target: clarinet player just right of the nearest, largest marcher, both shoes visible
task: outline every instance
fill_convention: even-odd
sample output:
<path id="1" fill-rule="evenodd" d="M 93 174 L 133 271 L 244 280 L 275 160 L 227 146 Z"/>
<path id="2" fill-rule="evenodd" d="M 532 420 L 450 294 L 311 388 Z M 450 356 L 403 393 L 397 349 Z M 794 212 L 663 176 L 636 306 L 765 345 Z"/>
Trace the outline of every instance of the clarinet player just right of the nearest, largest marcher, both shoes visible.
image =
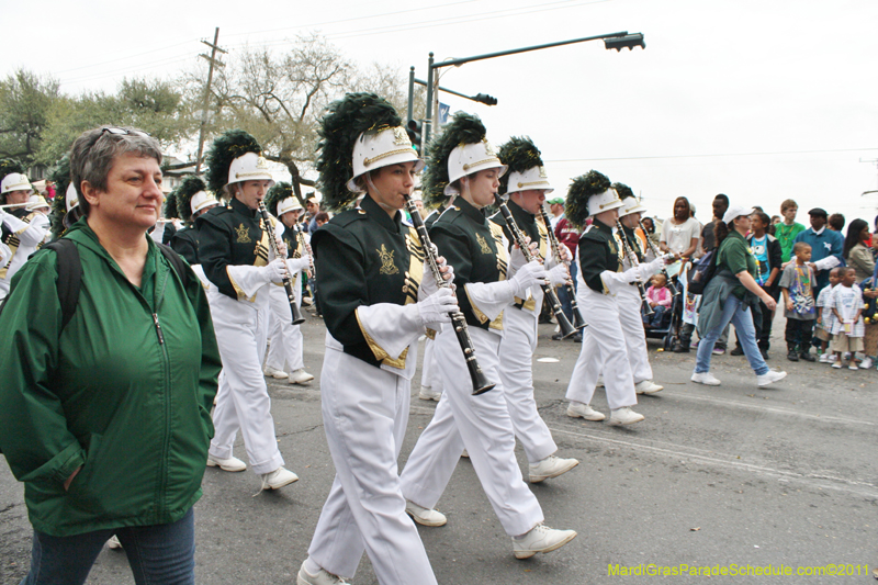
<path id="1" fill-rule="evenodd" d="M 455 195 L 432 225 L 430 239 L 454 267 L 458 300 L 475 357 L 496 386 L 474 396 L 454 331 L 437 335 L 442 397 L 401 479 L 408 500 L 406 511 L 418 524 L 442 526 L 446 517 L 432 508 L 465 448 L 494 513 L 513 539 L 515 556 L 527 559 L 563 547 L 576 532 L 543 526 L 540 504 L 521 479 L 515 457 L 515 430 L 498 371 L 504 310 L 515 297 L 527 299 L 528 291 L 544 282 L 549 272 L 537 260 L 526 262 L 520 250 L 510 265 L 503 228 L 485 217 L 483 209 L 494 203 L 504 172 L 506 166 L 475 116 L 455 114 L 430 150 L 425 198 L 436 203 Z"/>

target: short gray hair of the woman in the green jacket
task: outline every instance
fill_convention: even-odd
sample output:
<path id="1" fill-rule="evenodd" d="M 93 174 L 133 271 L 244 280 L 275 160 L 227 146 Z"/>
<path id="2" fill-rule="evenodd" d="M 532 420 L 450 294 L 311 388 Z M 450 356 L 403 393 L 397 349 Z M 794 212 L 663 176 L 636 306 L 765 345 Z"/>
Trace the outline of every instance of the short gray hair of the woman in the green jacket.
<path id="1" fill-rule="evenodd" d="M 70 181 L 76 185 L 79 207 L 89 214 L 89 202 L 82 196 L 82 181 L 88 181 L 99 191 L 106 191 L 106 176 L 116 157 L 135 153 L 144 158 L 155 158 L 161 165 L 161 147 L 158 140 L 142 130 L 119 126 L 124 133 L 113 133 L 101 126 L 79 135 L 70 149 Z"/>

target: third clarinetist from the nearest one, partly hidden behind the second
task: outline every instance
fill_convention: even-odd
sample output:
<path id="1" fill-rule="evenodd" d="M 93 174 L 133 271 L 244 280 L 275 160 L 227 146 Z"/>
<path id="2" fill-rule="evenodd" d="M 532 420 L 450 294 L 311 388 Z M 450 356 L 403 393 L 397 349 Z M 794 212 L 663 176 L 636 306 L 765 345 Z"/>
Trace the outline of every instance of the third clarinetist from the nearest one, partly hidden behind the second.
<path id="1" fill-rule="evenodd" d="M 556 262 L 549 254 L 549 234 L 536 214 L 545 201 L 545 195 L 554 191 L 540 158 L 540 150 L 530 138 L 511 138 L 499 150 L 500 162 L 509 171 L 500 177 L 500 194 L 508 195 L 507 206 L 521 232 L 530 238 L 531 246 L 538 246 L 539 254 L 547 258 L 552 285 L 560 285 L 570 279 L 566 266 Z M 491 221 L 503 227 L 509 252 L 515 241 L 502 213 L 497 212 Z M 567 250 L 566 246 L 562 248 Z M 569 250 L 567 250 L 569 254 Z M 554 267 L 552 265 L 554 263 Z M 503 312 L 503 340 L 500 341 L 499 374 L 503 393 L 513 420 L 515 435 L 525 447 L 530 463 L 530 481 L 538 483 L 572 470 L 579 462 L 576 459 L 555 457 L 558 446 L 545 426 L 537 402 L 533 400 L 533 372 L 531 362 L 537 351 L 537 328 L 542 307 L 542 289 L 531 286 L 525 297 L 516 297 Z"/>

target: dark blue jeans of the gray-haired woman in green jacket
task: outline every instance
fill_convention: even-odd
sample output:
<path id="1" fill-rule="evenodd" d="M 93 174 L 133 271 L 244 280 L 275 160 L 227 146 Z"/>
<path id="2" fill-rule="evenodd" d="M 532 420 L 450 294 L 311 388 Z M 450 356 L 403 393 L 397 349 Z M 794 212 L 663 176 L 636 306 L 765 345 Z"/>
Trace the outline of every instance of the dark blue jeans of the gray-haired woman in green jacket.
<path id="1" fill-rule="evenodd" d="M 31 572 L 21 585 L 81 585 L 104 542 L 116 535 L 137 585 L 194 585 L 195 521 L 192 508 L 176 522 L 53 537 L 34 530 Z"/>

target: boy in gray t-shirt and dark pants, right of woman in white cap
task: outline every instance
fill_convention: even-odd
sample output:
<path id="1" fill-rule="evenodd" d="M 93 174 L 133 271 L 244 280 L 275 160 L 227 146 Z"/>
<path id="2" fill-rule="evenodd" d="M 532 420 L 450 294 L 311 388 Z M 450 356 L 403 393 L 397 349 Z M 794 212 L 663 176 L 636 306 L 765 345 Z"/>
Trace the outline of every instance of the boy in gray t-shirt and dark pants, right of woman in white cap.
<path id="1" fill-rule="evenodd" d="M 814 294 L 811 288 L 814 282 L 814 271 L 809 265 L 811 260 L 811 246 L 797 241 L 792 246 L 793 260 L 784 269 L 780 277 L 780 290 L 784 291 L 784 304 L 787 317 L 787 359 L 790 361 L 815 361 L 811 356 L 811 335 L 813 334 Z"/>

